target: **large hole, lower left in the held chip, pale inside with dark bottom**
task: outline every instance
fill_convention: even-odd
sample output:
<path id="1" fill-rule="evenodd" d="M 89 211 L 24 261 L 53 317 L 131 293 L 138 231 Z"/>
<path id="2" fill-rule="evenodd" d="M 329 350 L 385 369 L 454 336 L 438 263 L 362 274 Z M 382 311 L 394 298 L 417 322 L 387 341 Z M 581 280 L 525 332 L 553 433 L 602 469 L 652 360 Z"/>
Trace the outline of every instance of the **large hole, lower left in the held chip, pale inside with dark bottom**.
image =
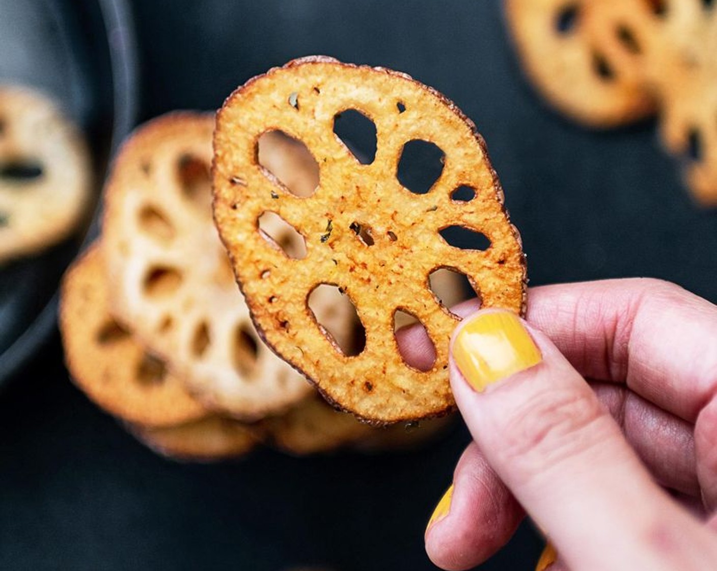
<path id="1" fill-rule="evenodd" d="M 366 347 L 366 329 L 356 306 L 340 287 L 318 284 L 307 298 L 308 308 L 321 332 L 342 355 L 355 357 Z"/>

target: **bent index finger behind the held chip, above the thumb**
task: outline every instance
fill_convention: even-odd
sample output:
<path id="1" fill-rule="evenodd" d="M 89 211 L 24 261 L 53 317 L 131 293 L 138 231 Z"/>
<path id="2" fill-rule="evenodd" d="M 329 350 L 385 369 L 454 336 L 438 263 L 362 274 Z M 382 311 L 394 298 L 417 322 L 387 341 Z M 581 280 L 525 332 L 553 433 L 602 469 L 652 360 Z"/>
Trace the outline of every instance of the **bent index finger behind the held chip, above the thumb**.
<path id="1" fill-rule="evenodd" d="M 583 376 L 689 421 L 717 394 L 717 306 L 656 279 L 535 287 L 526 319 Z"/>

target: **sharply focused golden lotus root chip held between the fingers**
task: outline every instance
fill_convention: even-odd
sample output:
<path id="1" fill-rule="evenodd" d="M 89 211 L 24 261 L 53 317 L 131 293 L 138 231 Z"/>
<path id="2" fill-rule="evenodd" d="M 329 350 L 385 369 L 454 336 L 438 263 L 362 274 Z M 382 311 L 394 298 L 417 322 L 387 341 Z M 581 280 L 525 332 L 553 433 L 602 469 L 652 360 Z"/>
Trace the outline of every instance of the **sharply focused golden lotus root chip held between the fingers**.
<path id="1" fill-rule="evenodd" d="M 349 109 L 376 126 L 370 164 L 332 132 L 337 114 Z M 295 195 L 257 159 L 260 136 L 277 130 L 318 164 L 310 196 Z M 412 141 L 445 155 L 440 177 L 421 195 L 397 177 Z M 473 189 L 473 198 L 452 198 L 460 187 Z M 305 251 L 294 255 L 267 240 L 261 226 L 269 215 L 294 228 Z M 328 400 L 377 424 L 454 407 L 447 352 L 458 317 L 429 289 L 433 271 L 465 274 L 485 306 L 523 309 L 521 243 L 483 139 L 453 103 L 402 73 L 308 57 L 237 89 L 217 115 L 214 218 L 263 338 Z M 482 234 L 490 246 L 453 247 L 442 238 L 447 228 Z M 342 351 L 309 307 L 313 292 L 326 287 L 338 287 L 356 308 L 365 331 L 356 351 Z M 416 317 L 435 347 L 427 371 L 399 353 L 399 311 Z"/>

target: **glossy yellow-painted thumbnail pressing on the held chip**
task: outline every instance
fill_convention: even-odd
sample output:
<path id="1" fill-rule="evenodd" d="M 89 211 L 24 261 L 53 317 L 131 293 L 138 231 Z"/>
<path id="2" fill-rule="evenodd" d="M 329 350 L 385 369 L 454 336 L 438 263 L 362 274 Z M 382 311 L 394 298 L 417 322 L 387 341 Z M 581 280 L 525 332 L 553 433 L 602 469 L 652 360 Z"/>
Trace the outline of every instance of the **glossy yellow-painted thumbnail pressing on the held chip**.
<path id="1" fill-rule="evenodd" d="M 468 384 L 481 392 L 543 358 L 516 314 L 490 311 L 462 325 L 453 341 L 453 359 Z"/>

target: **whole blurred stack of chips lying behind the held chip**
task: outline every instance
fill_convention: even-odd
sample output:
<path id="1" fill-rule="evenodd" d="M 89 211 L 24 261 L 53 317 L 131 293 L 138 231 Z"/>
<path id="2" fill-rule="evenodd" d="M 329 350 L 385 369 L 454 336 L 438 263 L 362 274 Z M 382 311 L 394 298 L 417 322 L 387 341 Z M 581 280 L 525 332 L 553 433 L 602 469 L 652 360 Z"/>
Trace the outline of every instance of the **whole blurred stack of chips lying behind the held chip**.
<path id="1" fill-rule="evenodd" d="M 320 187 L 317 157 L 273 127 L 252 132 L 253 159 L 277 195 L 310 197 Z M 62 284 L 60 328 L 77 386 L 153 450 L 182 460 L 234 458 L 260 443 L 296 455 L 394 450 L 445 430 L 448 417 L 359 422 L 265 345 L 234 279 L 242 261 L 227 254 L 212 218 L 214 128 L 214 113 L 169 113 L 139 127 L 115 157 L 101 236 Z M 310 247 L 280 214 L 254 230 L 272 253 Z M 457 274 L 433 279 L 451 304 L 467 297 Z M 345 293 L 315 292 L 311 312 L 332 343 L 366 343 Z"/>

